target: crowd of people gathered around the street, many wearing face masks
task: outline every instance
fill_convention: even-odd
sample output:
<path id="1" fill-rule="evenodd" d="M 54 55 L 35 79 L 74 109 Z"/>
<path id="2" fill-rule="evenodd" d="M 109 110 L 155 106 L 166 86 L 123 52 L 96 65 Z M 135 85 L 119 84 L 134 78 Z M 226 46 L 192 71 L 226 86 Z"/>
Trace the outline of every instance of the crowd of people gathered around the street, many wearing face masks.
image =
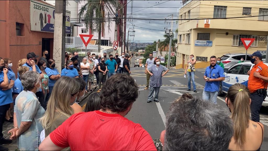
<path id="1" fill-rule="evenodd" d="M 42 54 L 47 59 L 47 51 Z M 258 55 L 252 57 L 256 64 Z M 162 77 L 169 69 L 160 65 L 159 58 L 149 56 L 145 72 L 147 81 L 151 80 L 147 102 L 159 102 Z M 185 93 L 175 100 L 166 116 L 166 129 L 154 140 L 140 124 L 125 117 L 139 96 L 139 87 L 129 76 L 128 53 L 109 58 L 105 53 L 98 59 L 90 52 L 82 59 L 77 52 L 65 53 L 61 74 L 53 59 L 37 62 L 38 57 L 28 53 L 27 59 L 18 62 L 17 79 L 12 60 L 0 58 L 1 145 L 15 139 L 19 150 L 259 150 L 262 145 L 264 127 L 249 119 L 252 88 L 242 84 L 229 88 L 225 101 L 231 116 L 214 102 L 213 92 L 224 78 L 215 56 L 204 74 L 209 89 L 204 90 L 203 98 Z M 191 71 L 187 71 L 193 72 L 193 55 L 190 59 Z M 98 75 L 101 91 L 86 98 L 83 110 L 77 100 L 92 91 L 94 75 Z M 14 122 L 8 132 L 10 139 L 3 138 L 5 120 Z M 0 150 L 8 150 L 1 145 Z"/>

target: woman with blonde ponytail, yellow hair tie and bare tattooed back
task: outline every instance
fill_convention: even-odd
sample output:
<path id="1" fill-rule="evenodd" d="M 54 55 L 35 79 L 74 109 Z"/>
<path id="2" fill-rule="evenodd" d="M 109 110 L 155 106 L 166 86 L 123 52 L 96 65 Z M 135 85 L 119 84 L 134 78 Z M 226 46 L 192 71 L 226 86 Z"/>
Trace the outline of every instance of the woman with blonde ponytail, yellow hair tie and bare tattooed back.
<path id="1" fill-rule="evenodd" d="M 234 84 L 225 99 L 234 124 L 229 150 L 260 150 L 263 124 L 250 120 L 250 93 L 242 84 Z"/>

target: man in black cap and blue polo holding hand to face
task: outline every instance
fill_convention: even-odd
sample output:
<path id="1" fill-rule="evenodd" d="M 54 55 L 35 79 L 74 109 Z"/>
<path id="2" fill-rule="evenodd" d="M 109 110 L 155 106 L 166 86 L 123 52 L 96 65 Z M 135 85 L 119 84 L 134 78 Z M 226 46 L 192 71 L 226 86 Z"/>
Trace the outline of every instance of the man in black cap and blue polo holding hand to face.
<path id="1" fill-rule="evenodd" d="M 38 57 L 39 56 L 37 56 L 34 52 L 28 53 L 27 54 L 27 62 L 22 66 L 28 67 L 30 70 L 39 73 L 40 74 L 40 80 L 41 80 L 41 79 L 44 78 L 44 75 L 43 75 L 42 71 L 39 69 L 39 67 L 36 65 Z M 43 89 L 42 84 L 41 84 L 41 87 L 39 89 L 37 89 L 35 95 L 38 98 L 41 106 L 43 108 L 45 108 L 44 89 Z"/>

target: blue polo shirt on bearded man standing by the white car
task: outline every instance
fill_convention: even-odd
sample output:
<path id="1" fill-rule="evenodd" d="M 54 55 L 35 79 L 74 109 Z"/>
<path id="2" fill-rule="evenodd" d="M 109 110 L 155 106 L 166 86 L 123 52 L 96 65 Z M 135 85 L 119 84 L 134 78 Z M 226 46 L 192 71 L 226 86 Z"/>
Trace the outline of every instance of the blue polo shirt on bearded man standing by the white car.
<path id="1" fill-rule="evenodd" d="M 218 79 L 221 77 L 225 77 L 225 74 L 223 68 L 216 64 L 215 67 L 212 69 L 211 66 L 207 67 L 204 76 L 207 76 L 210 79 Z M 219 81 L 206 82 L 204 90 L 209 92 L 219 91 L 219 84 Z"/>

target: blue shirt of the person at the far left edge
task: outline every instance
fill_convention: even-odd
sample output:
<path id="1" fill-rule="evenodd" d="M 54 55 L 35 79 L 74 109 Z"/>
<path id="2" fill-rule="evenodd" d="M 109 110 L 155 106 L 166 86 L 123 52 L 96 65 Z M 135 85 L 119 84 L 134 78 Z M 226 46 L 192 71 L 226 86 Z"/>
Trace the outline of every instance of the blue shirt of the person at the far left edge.
<path id="1" fill-rule="evenodd" d="M 8 83 L 10 83 L 10 77 L 8 75 Z M 0 84 L 4 82 L 4 73 L 0 71 Z M 0 87 L 0 106 L 10 104 L 13 102 L 12 98 L 12 90 L 5 90 L 3 91 Z"/>

